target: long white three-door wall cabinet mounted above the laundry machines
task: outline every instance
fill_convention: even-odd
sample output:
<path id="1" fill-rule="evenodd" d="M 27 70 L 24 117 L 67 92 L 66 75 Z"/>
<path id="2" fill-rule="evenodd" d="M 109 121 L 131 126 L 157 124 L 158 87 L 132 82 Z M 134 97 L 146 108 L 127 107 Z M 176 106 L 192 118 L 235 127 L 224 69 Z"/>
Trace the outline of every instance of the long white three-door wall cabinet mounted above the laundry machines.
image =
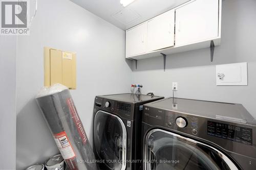
<path id="1" fill-rule="evenodd" d="M 126 58 L 138 60 L 220 45 L 221 5 L 222 0 L 191 0 L 126 30 Z"/>

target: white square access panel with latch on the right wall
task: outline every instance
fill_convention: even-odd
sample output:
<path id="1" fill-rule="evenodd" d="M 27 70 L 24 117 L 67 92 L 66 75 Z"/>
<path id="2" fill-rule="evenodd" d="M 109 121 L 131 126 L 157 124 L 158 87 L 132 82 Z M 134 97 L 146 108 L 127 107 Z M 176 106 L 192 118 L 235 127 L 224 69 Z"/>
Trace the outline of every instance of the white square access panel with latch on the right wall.
<path id="1" fill-rule="evenodd" d="M 220 79 L 218 74 L 223 74 Z M 216 65 L 217 86 L 247 86 L 247 62 Z"/>

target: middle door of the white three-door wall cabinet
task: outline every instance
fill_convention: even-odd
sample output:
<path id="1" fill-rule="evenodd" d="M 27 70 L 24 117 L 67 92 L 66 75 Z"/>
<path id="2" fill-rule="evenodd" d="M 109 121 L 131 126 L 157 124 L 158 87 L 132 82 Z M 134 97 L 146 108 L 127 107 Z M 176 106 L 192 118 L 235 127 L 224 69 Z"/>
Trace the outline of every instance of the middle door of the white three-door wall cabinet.
<path id="1" fill-rule="evenodd" d="M 167 11 L 147 22 L 147 51 L 174 46 L 175 10 Z"/>

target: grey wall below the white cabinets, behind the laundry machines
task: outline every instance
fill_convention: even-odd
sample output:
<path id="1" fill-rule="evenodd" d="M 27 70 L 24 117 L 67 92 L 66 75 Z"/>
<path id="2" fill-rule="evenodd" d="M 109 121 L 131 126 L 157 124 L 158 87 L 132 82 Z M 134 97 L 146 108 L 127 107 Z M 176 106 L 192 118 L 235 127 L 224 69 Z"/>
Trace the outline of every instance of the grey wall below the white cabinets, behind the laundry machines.
<path id="1" fill-rule="evenodd" d="M 133 63 L 133 82 L 143 85 L 144 93 L 172 96 L 172 82 L 178 82 L 179 98 L 241 103 L 256 118 L 256 1 L 222 1 L 221 45 L 215 47 L 214 62 L 210 50 L 168 55 L 166 71 L 163 57 Z M 248 86 L 216 86 L 216 65 L 248 62 Z"/>

